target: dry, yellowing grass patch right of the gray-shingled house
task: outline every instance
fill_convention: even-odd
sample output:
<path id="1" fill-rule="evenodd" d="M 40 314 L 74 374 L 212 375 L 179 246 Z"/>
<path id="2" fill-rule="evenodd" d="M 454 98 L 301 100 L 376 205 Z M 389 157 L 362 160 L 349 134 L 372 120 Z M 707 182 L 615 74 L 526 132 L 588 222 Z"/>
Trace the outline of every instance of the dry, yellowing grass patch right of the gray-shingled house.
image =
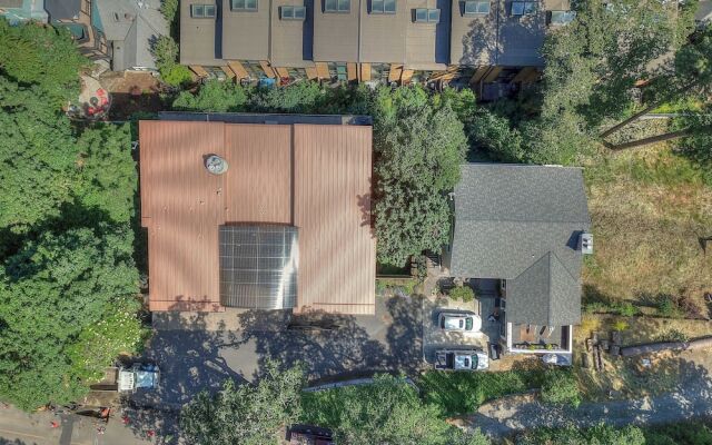
<path id="1" fill-rule="evenodd" d="M 585 169 L 594 255 L 584 261 L 584 300 L 694 301 L 705 314 L 712 255 L 712 186 L 666 146 L 607 154 Z M 712 248 L 712 246 L 710 246 Z"/>

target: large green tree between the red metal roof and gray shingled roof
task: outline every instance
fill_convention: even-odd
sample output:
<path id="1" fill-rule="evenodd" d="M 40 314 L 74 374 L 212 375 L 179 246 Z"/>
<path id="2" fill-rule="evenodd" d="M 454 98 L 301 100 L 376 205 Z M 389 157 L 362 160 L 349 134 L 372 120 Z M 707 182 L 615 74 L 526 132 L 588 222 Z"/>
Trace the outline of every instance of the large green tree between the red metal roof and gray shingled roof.
<path id="1" fill-rule="evenodd" d="M 445 194 L 459 179 L 467 140 L 451 105 L 421 88 L 380 89 L 372 107 L 378 259 L 399 265 L 447 243 Z"/>

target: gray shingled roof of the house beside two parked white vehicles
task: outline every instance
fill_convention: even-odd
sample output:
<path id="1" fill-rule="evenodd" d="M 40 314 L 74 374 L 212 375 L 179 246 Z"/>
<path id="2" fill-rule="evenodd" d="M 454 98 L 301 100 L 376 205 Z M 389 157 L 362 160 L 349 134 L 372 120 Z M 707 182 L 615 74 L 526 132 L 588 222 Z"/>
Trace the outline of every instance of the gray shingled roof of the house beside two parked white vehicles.
<path id="1" fill-rule="evenodd" d="M 465 165 L 455 188 L 451 275 L 507 279 L 508 320 L 575 324 L 577 244 L 590 226 L 578 168 Z"/>

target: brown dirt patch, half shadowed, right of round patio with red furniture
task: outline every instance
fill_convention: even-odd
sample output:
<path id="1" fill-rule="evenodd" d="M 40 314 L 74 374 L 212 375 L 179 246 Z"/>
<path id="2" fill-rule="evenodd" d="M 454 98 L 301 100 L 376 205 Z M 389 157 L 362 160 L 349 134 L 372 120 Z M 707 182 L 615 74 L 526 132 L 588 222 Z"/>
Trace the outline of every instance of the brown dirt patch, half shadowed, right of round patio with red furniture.
<path id="1" fill-rule="evenodd" d="M 102 85 L 111 93 L 111 119 L 123 120 L 136 112 L 158 112 L 162 110 L 162 86 L 150 72 L 107 72 Z"/>

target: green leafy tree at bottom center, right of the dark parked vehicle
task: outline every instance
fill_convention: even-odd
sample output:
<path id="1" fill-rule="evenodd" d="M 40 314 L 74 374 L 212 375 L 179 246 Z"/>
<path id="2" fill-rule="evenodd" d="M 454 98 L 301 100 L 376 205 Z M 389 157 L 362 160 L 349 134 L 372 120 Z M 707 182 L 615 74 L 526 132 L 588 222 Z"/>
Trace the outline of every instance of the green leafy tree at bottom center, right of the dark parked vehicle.
<path id="1" fill-rule="evenodd" d="M 373 385 L 305 393 L 303 404 L 303 422 L 333 428 L 337 443 L 437 445 L 456 434 L 436 406 L 389 375 L 376 376 Z"/>

